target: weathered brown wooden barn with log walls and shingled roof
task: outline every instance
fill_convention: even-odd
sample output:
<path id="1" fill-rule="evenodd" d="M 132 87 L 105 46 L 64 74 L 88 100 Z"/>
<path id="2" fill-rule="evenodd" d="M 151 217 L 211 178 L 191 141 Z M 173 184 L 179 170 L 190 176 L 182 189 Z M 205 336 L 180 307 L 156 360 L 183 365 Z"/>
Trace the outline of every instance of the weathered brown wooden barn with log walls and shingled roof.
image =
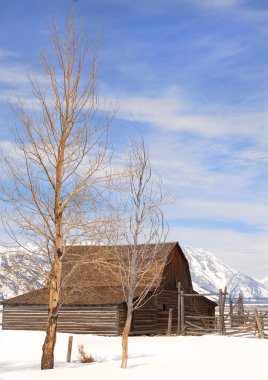
<path id="1" fill-rule="evenodd" d="M 148 246 L 148 252 L 153 249 Z M 121 335 L 126 319 L 126 303 L 119 276 L 112 270 L 118 247 L 73 246 L 63 260 L 65 285 L 61 292 L 58 331 L 101 335 Z M 123 250 L 124 246 L 120 246 Z M 164 243 L 159 255 L 165 265 L 155 284 L 154 296 L 134 311 L 131 334 L 165 334 L 169 310 L 173 310 L 172 331 L 178 327 L 178 289 L 194 294 L 188 261 L 178 243 Z M 103 263 L 101 265 L 103 257 Z M 157 268 L 157 260 L 155 263 Z M 146 279 L 143 286 L 146 286 Z M 140 288 L 137 289 L 138 296 Z M 45 330 L 48 309 L 47 288 L 2 301 L 2 328 Z M 185 319 L 201 315 L 214 317 L 216 303 L 199 297 L 185 297 Z"/>

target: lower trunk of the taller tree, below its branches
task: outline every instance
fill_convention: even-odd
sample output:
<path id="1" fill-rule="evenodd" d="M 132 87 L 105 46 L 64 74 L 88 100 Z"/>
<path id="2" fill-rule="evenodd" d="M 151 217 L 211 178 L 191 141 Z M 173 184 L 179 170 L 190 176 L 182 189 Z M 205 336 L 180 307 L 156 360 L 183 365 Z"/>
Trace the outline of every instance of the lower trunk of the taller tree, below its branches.
<path id="1" fill-rule="evenodd" d="M 41 359 L 41 369 L 54 368 L 54 347 L 56 343 L 57 322 L 59 314 L 59 283 L 61 278 L 61 261 L 56 260 L 54 264 L 54 275 L 51 280 L 48 321 L 46 327 L 46 337 L 43 344 L 43 355 Z"/>

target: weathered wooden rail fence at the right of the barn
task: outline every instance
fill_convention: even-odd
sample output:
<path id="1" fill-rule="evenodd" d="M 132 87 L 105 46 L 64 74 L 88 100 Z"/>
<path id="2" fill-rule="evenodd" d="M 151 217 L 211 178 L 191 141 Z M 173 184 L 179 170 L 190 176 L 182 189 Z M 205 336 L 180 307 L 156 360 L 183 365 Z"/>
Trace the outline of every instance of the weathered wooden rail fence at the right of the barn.
<path id="1" fill-rule="evenodd" d="M 238 298 L 231 297 L 227 288 L 219 289 L 213 295 L 218 299 L 215 317 L 204 315 L 184 315 L 184 302 L 192 302 L 193 297 L 208 294 L 188 294 L 178 284 L 178 304 L 181 311 L 178 321 L 178 334 L 204 335 L 218 333 L 222 335 L 243 336 L 251 338 L 268 338 L 268 298 Z M 227 297 L 228 296 L 228 297 Z M 182 302 L 183 301 L 183 302 Z"/>

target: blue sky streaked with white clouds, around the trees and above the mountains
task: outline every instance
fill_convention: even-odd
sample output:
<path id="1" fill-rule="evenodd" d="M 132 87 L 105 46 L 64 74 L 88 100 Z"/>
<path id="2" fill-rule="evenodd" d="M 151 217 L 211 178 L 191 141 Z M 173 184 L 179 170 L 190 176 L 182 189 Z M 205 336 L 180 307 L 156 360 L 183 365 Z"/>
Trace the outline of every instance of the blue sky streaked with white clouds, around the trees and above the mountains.
<path id="1" fill-rule="evenodd" d="M 31 100 L 48 27 L 75 6 L 100 38 L 100 95 L 119 111 L 116 149 L 144 134 L 172 203 L 169 240 L 268 275 L 268 3 L 0 0 L 0 145 L 15 93 Z"/>

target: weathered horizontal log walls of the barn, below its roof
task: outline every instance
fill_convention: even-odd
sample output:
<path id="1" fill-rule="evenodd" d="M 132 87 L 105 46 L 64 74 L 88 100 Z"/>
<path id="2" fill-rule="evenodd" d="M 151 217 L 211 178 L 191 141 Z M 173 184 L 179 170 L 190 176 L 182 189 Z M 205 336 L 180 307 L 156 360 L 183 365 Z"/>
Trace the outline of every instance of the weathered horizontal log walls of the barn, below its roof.
<path id="1" fill-rule="evenodd" d="M 213 317 L 214 307 L 203 297 L 185 299 L 185 321 L 204 326 L 202 319 Z M 172 333 L 177 331 L 178 294 L 176 290 L 163 290 L 149 299 L 133 313 L 131 335 L 166 334 L 169 309 L 173 309 Z M 47 307 L 43 305 L 4 305 L 3 329 L 45 330 Z M 59 312 L 58 331 L 79 334 L 121 335 L 126 320 L 126 304 L 62 306 Z M 211 323 L 211 322 L 209 322 Z M 208 321 L 205 321 L 208 324 Z M 213 327 L 211 325 L 211 327 Z"/>

